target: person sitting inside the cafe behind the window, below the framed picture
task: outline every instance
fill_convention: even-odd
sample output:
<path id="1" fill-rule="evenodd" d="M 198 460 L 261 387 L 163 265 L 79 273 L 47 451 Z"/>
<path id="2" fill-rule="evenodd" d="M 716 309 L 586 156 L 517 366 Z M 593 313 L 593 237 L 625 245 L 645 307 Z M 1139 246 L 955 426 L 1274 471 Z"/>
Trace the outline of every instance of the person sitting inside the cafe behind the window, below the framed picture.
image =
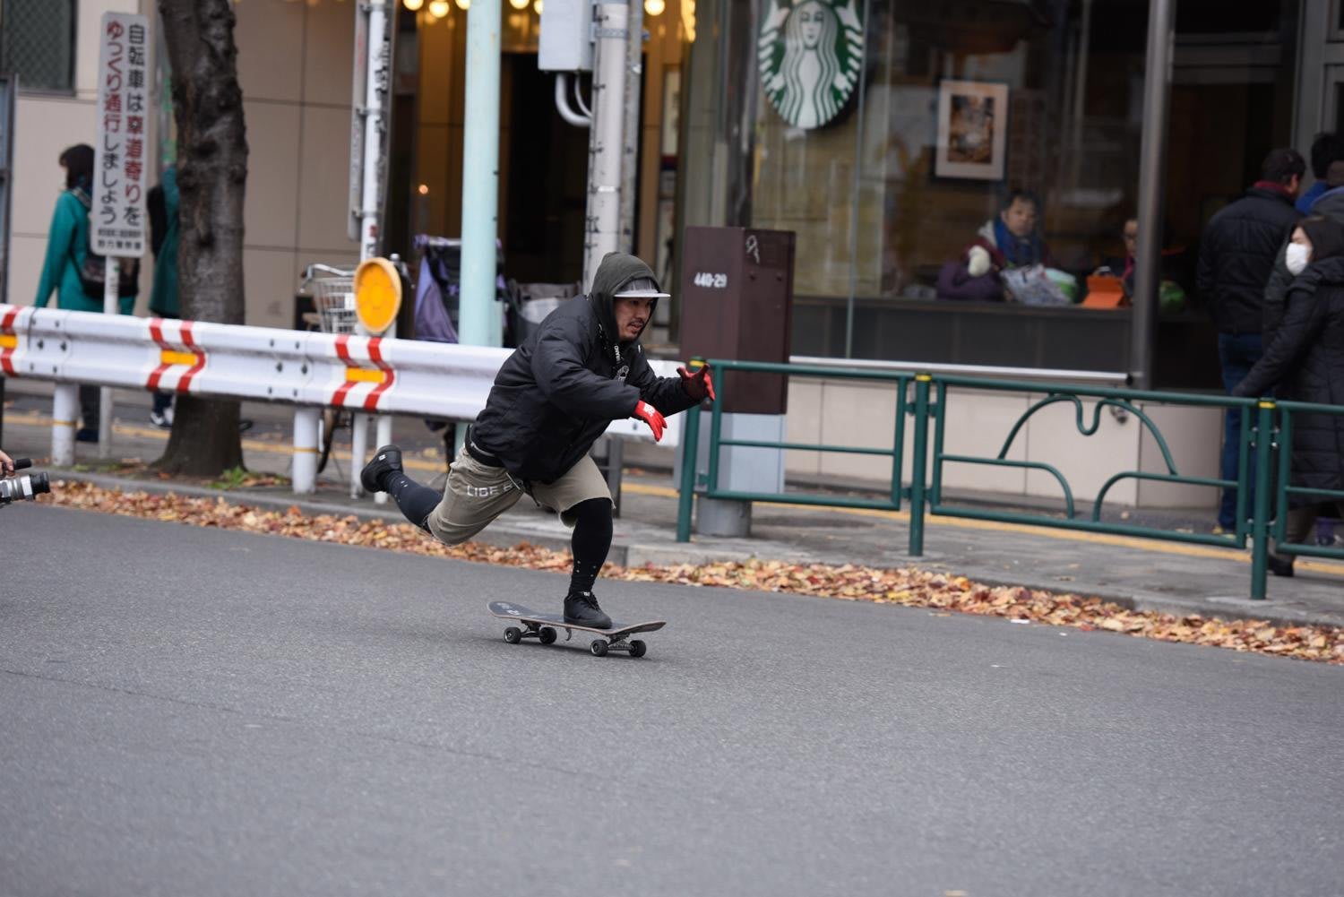
<path id="1" fill-rule="evenodd" d="M 1054 268 L 1050 249 L 1036 230 L 1040 203 L 1025 190 L 1015 190 L 986 221 L 961 258 L 938 273 L 938 299 L 1004 301 L 1000 274 L 1012 268 Z"/>

